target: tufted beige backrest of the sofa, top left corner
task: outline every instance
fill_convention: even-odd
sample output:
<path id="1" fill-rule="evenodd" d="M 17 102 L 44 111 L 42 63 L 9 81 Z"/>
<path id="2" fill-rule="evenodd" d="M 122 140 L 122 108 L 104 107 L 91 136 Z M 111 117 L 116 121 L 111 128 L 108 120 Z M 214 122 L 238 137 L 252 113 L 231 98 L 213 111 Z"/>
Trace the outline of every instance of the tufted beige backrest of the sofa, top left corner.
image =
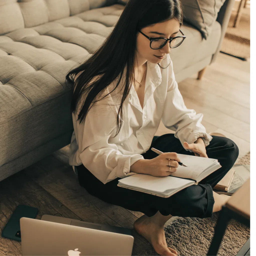
<path id="1" fill-rule="evenodd" d="M 116 0 L 0 0 L 0 35 L 115 3 Z"/>

